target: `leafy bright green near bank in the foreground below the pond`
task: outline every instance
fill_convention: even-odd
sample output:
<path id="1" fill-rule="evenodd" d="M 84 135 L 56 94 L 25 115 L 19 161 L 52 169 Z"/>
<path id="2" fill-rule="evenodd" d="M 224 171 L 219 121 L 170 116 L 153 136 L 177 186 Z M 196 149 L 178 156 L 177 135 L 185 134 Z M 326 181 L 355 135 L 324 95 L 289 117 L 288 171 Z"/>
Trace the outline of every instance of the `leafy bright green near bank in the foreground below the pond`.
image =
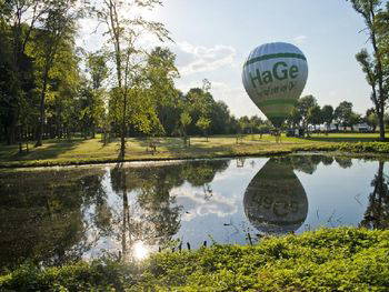
<path id="1" fill-rule="evenodd" d="M 389 231 L 332 229 L 161 252 L 143 263 L 31 265 L 0 276 L 1 291 L 388 291 Z"/>

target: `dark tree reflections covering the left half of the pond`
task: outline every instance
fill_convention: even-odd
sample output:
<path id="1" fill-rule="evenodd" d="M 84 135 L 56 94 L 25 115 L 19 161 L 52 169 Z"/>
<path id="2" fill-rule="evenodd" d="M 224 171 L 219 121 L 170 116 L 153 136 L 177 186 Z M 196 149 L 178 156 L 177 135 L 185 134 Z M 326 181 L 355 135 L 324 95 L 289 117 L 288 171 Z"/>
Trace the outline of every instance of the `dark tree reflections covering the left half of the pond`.
<path id="1" fill-rule="evenodd" d="M 216 160 L 119 165 L 108 172 L 68 168 L 2 173 L 0 272 L 26 260 L 61 265 L 99 256 L 99 250 L 111 250 L 110 241 L 119 243 L 123 259 L 142 258 L 150 245 L 168 245 L 180 228 L 181 209 L 171 190 L 189 182 L 210 198 L 216 173 L 228 165 L 228 160 Z"/>

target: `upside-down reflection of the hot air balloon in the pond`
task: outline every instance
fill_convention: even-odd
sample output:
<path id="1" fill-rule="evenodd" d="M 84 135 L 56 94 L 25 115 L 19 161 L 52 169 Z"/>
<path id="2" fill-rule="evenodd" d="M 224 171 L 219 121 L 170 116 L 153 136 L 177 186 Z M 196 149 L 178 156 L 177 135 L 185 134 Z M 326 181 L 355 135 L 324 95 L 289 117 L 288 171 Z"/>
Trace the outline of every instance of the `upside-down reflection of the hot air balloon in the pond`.
<path id="1" fill-rule="evenodd" d="M 243 198 L 245 214 L 262 233 L 297 231 L 307 219 L 306 191 L 286 159 L 270 159 L 251 180 Z"/>

